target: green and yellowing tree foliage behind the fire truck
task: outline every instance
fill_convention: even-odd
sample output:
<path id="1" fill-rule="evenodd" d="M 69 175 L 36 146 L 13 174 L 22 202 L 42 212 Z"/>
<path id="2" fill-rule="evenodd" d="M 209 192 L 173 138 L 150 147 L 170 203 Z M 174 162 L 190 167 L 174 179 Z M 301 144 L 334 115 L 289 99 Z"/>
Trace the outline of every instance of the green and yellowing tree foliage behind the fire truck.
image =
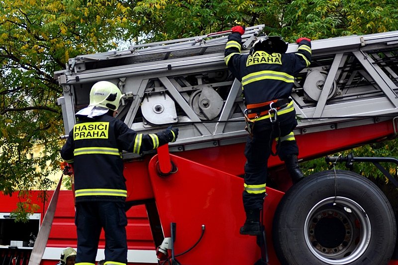
<path id="1" fill-rule="evenodd" d="M 0 0 L 0 4 L 0 189 L 6 194 L 45 189 L 51 184 L 48 174 L 58 170 L 59 136 L 64 132 L 56 99 L 62 89 L 53 73 L 64 69 L 69 58 L 204 35 L 236 24 L 265 24 L 267 34 L 289 42 L 301 36 L 320 39 L 398 29 L 394 0 Z M 35 144 L 44 146 L 43 156 L 32 159 L 29 152 Z M 392 148 L 383 155 L 394 152 Z M 323 164 L 315 161 L 305 166 L 323 167 L 319 165 Z"/>

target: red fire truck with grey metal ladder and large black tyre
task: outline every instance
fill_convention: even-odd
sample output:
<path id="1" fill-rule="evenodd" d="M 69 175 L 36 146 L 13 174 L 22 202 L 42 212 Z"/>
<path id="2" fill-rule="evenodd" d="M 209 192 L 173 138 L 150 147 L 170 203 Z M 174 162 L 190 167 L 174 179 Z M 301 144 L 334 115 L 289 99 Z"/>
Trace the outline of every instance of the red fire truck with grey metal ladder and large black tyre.
<path id="1" fill-rule="evenodd" d="M 265 35 L 263 29 L 246 28 L 242 53 Z M 375 183 L 349 170 L 317 172 L 292 186 L 284 164 L 271 157 L 264 233 L 239 234 L 248 134 L 241 84 L 224 63 L 228 34 L 81 55 L 54 74 L 63 88 L 58 104 L 66 135 L 98 81 L 112 82 L 124 94 L 117 118 L 129 128 L 145 134 L 179 128 L 178 140 L 157 151 L 123 154 L 129 264 L 398 264 L 396 211 Z M 398 31 L 311 45 L 311 64 L 297 76 L 291 96 L 299 160 L 396 137 Z M 297 48 L 289 44 L 287 52 Z M 327 160 L 349 167 L 373 163 L 398 187 L 380 164 L 397 159 Z M 42 264 L 56 260 L 51 252 L 76 247 L 73 193 L 60 196 Z M 98 260 L 103 246 L 102 236 Z"/>

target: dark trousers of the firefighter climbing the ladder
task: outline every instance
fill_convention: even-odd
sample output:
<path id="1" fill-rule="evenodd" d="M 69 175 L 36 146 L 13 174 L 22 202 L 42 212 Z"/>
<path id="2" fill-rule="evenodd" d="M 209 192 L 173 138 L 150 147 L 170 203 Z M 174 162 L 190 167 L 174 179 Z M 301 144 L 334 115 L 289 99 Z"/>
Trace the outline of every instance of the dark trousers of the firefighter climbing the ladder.
<path id="1" fill-rule="evenodd" d="M 267 164 L 271 155 L 270 139 L 284 137 L 293 132 L 297 126 L 296 111 L 277 116 L 279 129 L 272 130 L 269 118 L 256 121 L 253 127 L 253 136 L 247 137 L 245 147 L 245 184 L 261 185 L 267 182 Z M 278 156 L 285 161 L 288 155 L 298 155 L 296 140 L 281 141 L 278 147 Z M 248 193 L 243 191 L 243 206 L 245 210 L 263 208 L 265 193 Z"/>

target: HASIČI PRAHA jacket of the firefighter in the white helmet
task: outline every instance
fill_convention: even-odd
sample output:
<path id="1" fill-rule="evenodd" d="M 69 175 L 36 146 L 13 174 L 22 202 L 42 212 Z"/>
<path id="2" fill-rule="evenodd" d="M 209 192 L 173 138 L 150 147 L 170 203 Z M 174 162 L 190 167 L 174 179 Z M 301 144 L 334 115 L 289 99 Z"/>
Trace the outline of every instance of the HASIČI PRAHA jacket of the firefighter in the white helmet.
<path id="1" fill-rule="evenodd" d="M 140 134 L 107 114 L 75 124 L 61 149 L 73 163 L 75 196 L 79 201 L 124 201 L 122 150 L 140 154 L 174 140 L 170 131 Z"/>

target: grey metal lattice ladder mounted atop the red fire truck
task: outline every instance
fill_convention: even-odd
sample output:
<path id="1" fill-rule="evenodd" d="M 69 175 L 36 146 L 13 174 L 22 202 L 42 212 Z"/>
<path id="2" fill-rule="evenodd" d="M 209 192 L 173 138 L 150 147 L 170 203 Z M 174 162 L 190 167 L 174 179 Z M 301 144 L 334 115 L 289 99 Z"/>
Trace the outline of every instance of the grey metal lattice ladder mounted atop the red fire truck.
<path id="1" fill-rule="evenodd" d="M 242 53 L 264 25 L 249 27 Z M 136 131 L 179 125 L 171 151 L 244 141 L 241 84 L 226 69 L 228 33 L 131 46 L 70 59 L 55 73 L 64 89 L 65 130 L 88 104 L 91 86 L 117 84 L 125 94 L 119 118 Z M 290 44 L 288 52 L 295 52 Z M 391 119 L 398 107 L 398 31 L 312 41 L 312 62 L 297 77 L 292 98 L 303 118 L 295 134 L 334 130 Z M 382 106 L 382 107 L 381 107 Z"/>

